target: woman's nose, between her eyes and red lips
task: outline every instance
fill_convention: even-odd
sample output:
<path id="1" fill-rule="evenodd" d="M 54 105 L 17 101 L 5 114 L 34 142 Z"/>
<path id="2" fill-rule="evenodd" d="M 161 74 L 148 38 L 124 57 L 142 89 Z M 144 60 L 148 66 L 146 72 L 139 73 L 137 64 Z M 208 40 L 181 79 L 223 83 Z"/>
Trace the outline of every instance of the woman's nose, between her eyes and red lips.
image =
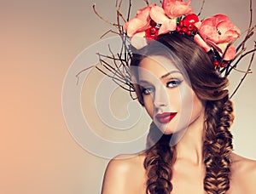
<path id="1" fill-rule="evenodd" d="M 166 88 L 163 85 L 155 88 L 154 92 L 154 107 L 158 108 L 160 106 L 167 106 L 169 105 L 169 98 L 166 91 Z"/>

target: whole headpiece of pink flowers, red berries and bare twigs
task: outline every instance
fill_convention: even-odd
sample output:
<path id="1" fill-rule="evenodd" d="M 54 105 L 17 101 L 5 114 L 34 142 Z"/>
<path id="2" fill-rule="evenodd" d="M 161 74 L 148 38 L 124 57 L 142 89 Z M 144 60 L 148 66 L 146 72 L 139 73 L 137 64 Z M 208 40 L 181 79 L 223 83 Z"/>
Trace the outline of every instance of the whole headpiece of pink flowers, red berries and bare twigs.
<path id="1" fill-rule="evenodd" d="M 143 48 L 152 40 L 157 40 L 161 34 L 170 33 L 170 36 L 172 36 L 172 33 L 180 33 L 184 36 L 193 37 L 195 43 L 204 48 L 208 54 L 211 54 L 214 59 L 212 61 L 213 65 L 224 77 L 229 76 L 232 70 L 240 71 L 236 68 L 238 63 L 247 55 L 251 55 L 247 71 L 241 71 L 244 75 L 233 92 L 235 94 L 247 74 L 252 73 L 251 66 L 256 52 L 255 41 L 252 49 L 247 50 L 246 47 L 247 41 L 253 37 L 256 29 L 256 25 L 252 25 L 252 0 L 249 0 L 249 26 L 247 31 L 244 32 L 244 38 L 237 47 L 235 47 L 234 42 L 241 37 L 241 31 L 230 21 L 227 15 L 215 14 L 204 20 L 199 19 L 205 0 L 202 0 L 199 14 L 193 13 L 193 8 L 189 7 L 191 0 L 187 2 L 183 2 L 183 0 L 163 0 L 160 1 L 161 6 L 158 6 L 156 3 L 149 4 L 148 0 L 143 1 L 147 6 L 137 10 L 136 17 L 130 19 L 131 0 L 129 0 L 130 5 L 127 19 L 125 19 L 124 14 L 120 11 L 122 0 L 116 0 L 117 21 L 115 23 L 106 20 L 102 15 L 98 14 L 96 5 L 93 5 L 96 15 L 117 29 L 117 31 L 107 31 L 102 37 L 108 34 L 108 32 L 113 32 L 118 34 L 123 41 L 122 48 L 117 56 L 111 52 L 111 48 L 109 48 L 111 53 L 109 55 L 98 54 L 102 66 L 95 66 L 96 69 L 111 77 L 121 88 L 125 88 L 131 94 L 135 91 L 131 83 L 129 68 L 132 54 L 131 48 Z M 113 65 L 103 58 L 113 60 Z M 233 94 L 230 95 L 230 98 Z"/>

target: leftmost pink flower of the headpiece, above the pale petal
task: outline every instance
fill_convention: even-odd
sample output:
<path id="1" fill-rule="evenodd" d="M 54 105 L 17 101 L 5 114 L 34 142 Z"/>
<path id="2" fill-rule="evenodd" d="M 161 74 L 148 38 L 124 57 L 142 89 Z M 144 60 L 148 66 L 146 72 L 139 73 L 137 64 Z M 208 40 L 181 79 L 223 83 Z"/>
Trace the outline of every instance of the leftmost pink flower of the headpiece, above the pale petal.
<path id="1" fill-rule="evenodd" d="M 135 18 L 125 23 L 125 31 L 129 37 L 135 34 L 146 31 L 150 27 L 150 10 L 155 6 L 155 3 L 137 10 Z"/>

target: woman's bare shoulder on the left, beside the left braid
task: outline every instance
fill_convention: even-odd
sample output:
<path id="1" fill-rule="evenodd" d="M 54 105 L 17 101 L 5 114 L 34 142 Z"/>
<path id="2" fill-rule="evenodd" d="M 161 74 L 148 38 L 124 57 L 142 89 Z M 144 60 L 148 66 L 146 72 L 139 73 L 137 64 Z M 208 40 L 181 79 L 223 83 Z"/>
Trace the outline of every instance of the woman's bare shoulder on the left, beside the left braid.
<path id="1" fill-rule="evenodd" d="M 137 193 L 143 187 L 143 155 L 120 155 L 108 163 L 102 194 Z"/>

